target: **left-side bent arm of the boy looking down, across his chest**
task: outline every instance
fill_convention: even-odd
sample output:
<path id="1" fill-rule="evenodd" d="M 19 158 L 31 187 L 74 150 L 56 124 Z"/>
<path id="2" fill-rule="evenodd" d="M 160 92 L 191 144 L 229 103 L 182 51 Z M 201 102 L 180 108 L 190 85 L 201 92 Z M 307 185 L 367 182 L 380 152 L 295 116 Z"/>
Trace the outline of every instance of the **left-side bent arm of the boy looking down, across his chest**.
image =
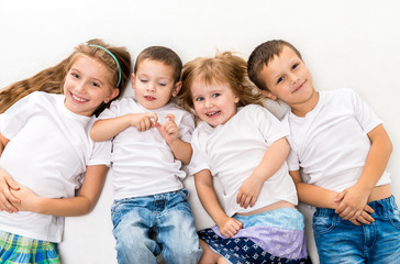
<path id="1" fill-rule="evenodd" d="M 158 117 L 155 112 L 130 113 L 118 118 L 102 119 L 93 123 L 90 130 L 92 141 L 108 141 L 129 127 L 135 127 L 138 131 L 154 128 Z"/>

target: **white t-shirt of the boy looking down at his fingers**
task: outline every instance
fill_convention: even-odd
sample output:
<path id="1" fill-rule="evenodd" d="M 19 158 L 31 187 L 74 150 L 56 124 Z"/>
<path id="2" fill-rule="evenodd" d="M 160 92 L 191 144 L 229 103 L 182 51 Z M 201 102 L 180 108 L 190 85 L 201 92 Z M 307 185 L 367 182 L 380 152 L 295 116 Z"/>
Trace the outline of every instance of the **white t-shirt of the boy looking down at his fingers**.
<path id="1" fill-rule="evenodd" d="M 113 101 L 99 119 L 121 117 L 127 113 L 156 112 L 158 122 L 166 121 L 165 116 L 175 116 L 179 128 L 179 139 L 190 142 L 195 129 L 193 117 L 168 103 L 156 110 L 147 110 L 133 98 Z M 114 199 L 141 197 L 181 189 L 186 173 L 180 161 L 156 128 L 138 131 L 130 127 L 114 136 L 111 155 L 113 168 Z"/>

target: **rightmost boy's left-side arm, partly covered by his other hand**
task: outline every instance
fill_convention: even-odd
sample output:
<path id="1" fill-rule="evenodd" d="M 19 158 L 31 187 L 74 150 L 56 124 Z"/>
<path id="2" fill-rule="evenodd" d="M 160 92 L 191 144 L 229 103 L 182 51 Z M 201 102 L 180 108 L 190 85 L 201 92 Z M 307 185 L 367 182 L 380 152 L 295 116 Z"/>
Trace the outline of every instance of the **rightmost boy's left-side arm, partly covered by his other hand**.
<path id="1" fill-rule="evenodd" d="M 337 208 L 337 202 L 335 202 L 335 197 L 337 196 L 336 191 L 303 183 L 300 170 L 290 170 L 289 174 L 295 182 L 297 194 L 301 202 L 321 208 Z M 354 219 L 351 222 L 356 226 L 360 226 L 360 223 L 369 224 L 374 222 L 374 218 L 369 216 L 369 213 L 374 213 L 373 208 L 365 206 L 364 210 L 365 211 L 357 219 Z"/>

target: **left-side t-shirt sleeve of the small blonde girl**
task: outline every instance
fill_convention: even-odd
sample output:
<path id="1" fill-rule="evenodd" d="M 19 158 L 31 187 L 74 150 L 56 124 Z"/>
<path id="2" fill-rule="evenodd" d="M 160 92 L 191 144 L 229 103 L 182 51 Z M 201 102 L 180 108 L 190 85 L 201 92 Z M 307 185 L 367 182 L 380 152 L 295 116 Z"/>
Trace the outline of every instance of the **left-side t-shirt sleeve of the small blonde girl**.
<path id="1" fill-rule="evenodd" d="M 197 129 L 191 138 L 191 147 L 193 148 L 193 153 L 190 163 L 187 166 L 189 175 L 195 175 L 203 169 L 209 169 L 211 172 L 207 155 L 204 151 L 201 150 L 199 131 Z"/>

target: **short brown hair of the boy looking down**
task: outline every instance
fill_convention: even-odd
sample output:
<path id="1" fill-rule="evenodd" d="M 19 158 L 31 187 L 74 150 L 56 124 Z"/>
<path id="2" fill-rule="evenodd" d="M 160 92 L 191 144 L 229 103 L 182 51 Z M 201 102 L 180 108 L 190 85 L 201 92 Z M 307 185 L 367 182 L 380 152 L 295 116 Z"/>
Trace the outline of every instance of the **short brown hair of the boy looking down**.
<path id="1" fill-rule="evenodd" d="M 144 59 L 162 62 L 165 65 L 171 66 L 174 69 L 174 81 L 175 84 L 180 80 L 180 73 L 182 70 L 182 61 L 173 50 L 164 46 L 149 46 L 143 50 L 136 58 L 135 67 L 133 73 L 136 74 L 138 64 Z"/>

